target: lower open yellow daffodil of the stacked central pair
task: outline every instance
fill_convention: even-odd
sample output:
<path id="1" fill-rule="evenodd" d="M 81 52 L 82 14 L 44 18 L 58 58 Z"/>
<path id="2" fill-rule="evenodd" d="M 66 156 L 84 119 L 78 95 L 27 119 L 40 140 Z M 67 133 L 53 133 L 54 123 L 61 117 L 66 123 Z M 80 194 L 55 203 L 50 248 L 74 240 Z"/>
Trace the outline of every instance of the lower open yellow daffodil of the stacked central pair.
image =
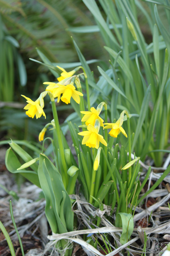
<path id="1" fill-rule="evenodd" d="M 94 126 L 88 125 L 87 130 L 88 131 L 81 131 L 78 133 L 79 135 L 84 136 L 82 145 L 86 144 L 88 147 L 95 147 L 98 149 L 99 142 L 101 142 L 103 145 L 107 146 L 103 136 L 98 133 L 98 130 Z"/>

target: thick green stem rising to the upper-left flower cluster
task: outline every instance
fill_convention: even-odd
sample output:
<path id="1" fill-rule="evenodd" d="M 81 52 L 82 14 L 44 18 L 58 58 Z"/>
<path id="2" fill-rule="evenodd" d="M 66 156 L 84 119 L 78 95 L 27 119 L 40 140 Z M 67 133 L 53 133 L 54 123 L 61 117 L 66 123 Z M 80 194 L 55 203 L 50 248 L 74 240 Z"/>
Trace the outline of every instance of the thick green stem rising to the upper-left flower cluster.
<path id="1" fill-rule="evenodd" d="M 54 117 L 54 123 L 55 123 L 55 131 L 56 131 L 56 135 L 57 135 L 57 139 L 58 139 L 58 145 L 59 145 L 60 155 L 61 155 L 61 159 L 62 159 L 62 165 L 63 165 L 65 179 L 66 179 L 66 181 L 65 182 L 63 181 L 63 182 L 67 186 L 67 184 L 68 184 L 67 165 L 66 165 L 66 160 L 65 160 L 65 155 L 64 155 L 64 147 L 63 147 L 63 142 L 62 142 L 62 137 L 61 137 L 61 131 L 60 131 L 60 125 L 59 125 L 59 121 L 58 121 L 58 115 L 57 115 L 55 101 L 51 100 L 51 105 L 52 105 L 52 111 L 53 111 L 53 117 Z"/>

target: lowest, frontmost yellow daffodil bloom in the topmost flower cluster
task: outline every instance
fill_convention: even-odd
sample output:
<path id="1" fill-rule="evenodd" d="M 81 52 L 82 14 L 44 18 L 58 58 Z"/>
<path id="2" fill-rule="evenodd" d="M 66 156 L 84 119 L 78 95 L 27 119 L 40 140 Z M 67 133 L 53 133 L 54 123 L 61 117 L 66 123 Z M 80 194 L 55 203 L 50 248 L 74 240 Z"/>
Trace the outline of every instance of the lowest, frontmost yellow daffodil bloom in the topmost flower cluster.
<path id="1" fill-rule="evenodd" d="M 75 90 L 74 85 L 68 84 L 68 85 L 62 85 L 62 84 L 57 84 L 60 88 L 57 89 L 55 96 L 59 97 L 61 94 L 63 96 L 61 97 L 61 100 L 65 102 L 66 104 L 70 103 L 71 97 L 75 102 L 78 104 L 80 103 L 80 96 L 83 96 L 80 91 Z"/>

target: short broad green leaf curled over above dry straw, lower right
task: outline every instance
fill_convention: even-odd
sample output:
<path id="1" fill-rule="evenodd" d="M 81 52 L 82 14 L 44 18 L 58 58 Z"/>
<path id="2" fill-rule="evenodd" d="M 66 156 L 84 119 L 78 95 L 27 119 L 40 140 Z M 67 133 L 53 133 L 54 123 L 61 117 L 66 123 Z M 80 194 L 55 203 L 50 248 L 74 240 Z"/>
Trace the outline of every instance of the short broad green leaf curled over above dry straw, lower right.
<path id="1" fill-rule="evenodd" d="M 116 227 L 122 227 L 122 234 L 120 237 L 120 243 L 125 244 L 128 242 L 128 239 L 130 238 L 133 228 L 134 228 L 134 222 L 132 214 L 130 213 L 118 213 L 116 215 L 116 221 L 115 221 Z"/>

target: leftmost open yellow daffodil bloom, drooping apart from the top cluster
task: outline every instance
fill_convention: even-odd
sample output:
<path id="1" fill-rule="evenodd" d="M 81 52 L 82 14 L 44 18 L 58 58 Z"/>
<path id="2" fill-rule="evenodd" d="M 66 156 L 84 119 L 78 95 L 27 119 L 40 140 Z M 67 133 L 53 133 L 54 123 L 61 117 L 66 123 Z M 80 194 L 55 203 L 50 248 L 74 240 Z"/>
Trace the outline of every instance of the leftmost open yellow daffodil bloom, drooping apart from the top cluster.
<path id="1" fill-rule="evenodd" d="M 34 116 L 36 116 L 36 118 L 39 118 L 39 117 L 41 117 L 41 115 L 43 115 L 46 118 L 44 110 L 40 106 L 39 98 L 36 101 L 33 101 L 33 100 L 31 100 L 30 98 L 28 98 L 28 97 L 26 97 L 24 95 L 21 95 L 21 96 L 26 98 L 27 103 L 28 103 L 24 107 L 24 109 L 28 110 L 28 111 L 26 111 L 26 115 L 28 115 L 29 117 L 32 117 L 32 118 L 34 118 Z"/>

